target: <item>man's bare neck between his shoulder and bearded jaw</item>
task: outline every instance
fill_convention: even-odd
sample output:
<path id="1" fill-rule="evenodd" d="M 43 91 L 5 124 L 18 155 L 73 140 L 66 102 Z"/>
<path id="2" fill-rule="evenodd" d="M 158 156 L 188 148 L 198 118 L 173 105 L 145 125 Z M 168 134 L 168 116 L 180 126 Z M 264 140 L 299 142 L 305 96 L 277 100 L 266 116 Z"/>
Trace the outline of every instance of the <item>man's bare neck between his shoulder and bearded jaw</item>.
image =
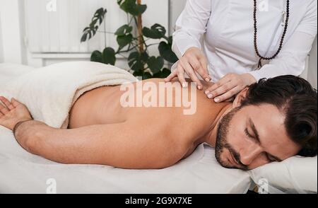
<path id="1" fill-rule="evenodd" d="M 216 134 L 218 132 L 218 124 L 220 123 L 220 120 L 223 118 L 224 115 L 226 115 L 228 112 L 232 110 L 232 103 L 228 103 L 228 105 L 225 105 L 218 115 L 216 116 L 216 120 L 214 120 L 213 125 L 211 126 L 211 131 L 206 134 L 206 137 L 202 139 L 202 143 L 206 142 L 208 145 L 215 147 L 216 146 Z"/>

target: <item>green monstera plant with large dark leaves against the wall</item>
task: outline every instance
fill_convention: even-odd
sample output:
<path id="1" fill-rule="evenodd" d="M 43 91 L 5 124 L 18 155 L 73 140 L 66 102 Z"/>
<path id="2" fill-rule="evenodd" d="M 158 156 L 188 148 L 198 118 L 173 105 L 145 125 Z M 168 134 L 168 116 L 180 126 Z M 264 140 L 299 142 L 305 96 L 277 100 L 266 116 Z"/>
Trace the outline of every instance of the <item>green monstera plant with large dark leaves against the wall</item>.
<path id="1" fill-rule="evenodd" d="M 172 36 L 166 36 L 167 31 L 162 25 L 154 24 L 151 28 L 143 27 L 142 14 L 147 6 L 141 4 L 141 0 L 117 0 L 119 7 L 129 16 L 129 22 L 114 33 L 117 36 L 119 47 L 114 50 L 112 47 L 105 47 L 100 52 L 95 50 L 90 57 L 92 62 L 101 62 L 104 64 L 116 64 L 117 54 L 127 58 L 131 72 L 134 76 L 140 76 L 142 79 L 165 78 L 170 74 L 167 65 L 177 62 L 177 56 L 172 52 Z M 105 20 L 105 8 L 99 8 L 90 23 L 83 30 L 81 42 L 90 40 L 97 32 Z M 105 23 L 105 21 L 104 21 Z M 102 33 L 107 33 L 106 31 Z M 155 39 L 158 43 L 147 44 L 148 40 Z M 158 45 L 160 56 L 155 57 L 149 54 L 148 48 Z M 166 61 L 166 64 L 165 64 Z"/>

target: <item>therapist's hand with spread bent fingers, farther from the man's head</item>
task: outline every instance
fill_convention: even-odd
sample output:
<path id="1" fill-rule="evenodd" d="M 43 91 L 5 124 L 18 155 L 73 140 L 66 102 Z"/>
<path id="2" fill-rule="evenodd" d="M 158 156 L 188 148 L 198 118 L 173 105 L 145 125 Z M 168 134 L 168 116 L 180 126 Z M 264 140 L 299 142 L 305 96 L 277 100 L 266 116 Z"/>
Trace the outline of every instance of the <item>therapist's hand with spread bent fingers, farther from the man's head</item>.
<path id="1" fill-rule="evenodd" d="M 189 78 L 196 83 L 199 90 L 203 89 L 203 85 L 196 75 L 196 72 L 205 81 L 210 81 L 211 77 L 208 75 L 208 62 L 206 56 L 198 47 L 190 47 L 183 57 L 179 59 L 177 63 L 177 69 L 168 76 L 165 81 L 171 81 L 176 76 L 182 87 L 187 87 L 187 81 L 184 79 L 184 73 L 187 73 Z"/>

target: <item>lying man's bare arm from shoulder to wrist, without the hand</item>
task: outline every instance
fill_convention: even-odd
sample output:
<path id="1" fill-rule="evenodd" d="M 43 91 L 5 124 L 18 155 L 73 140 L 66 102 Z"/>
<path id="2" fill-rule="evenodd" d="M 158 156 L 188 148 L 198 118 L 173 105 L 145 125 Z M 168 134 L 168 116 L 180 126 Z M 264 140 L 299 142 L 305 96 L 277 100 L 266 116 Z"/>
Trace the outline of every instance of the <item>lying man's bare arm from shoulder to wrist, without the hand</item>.
<path id="1" fill-rule="evenodd" d="M 182 158 L 155 128 L 134 122 L 55 129 L 38 121 L 22 123 L 16 139 L 32 154 L 59 163 L 100 164 L 119 168 L 165 168 Z"/>

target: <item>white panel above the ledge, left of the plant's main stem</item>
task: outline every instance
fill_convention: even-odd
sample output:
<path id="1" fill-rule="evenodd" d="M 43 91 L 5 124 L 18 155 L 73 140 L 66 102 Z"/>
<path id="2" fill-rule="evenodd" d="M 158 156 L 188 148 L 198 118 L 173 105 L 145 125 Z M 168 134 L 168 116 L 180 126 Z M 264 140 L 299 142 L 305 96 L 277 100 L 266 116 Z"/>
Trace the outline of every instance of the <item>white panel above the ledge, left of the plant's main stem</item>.
<path id="1" fill-rule="evenodd" d="M 49 4 L 49 10 L 47 6 Z M 51 6 L 51 7 L 50 7 Z M 105 36 L 98 33 L 81 43 L 95 11 L 107 8 L 106 30 L 114 32 L 126 23 L 126 14 L 114 0 L 25 0 L 27 46 L 30 52 L 92 52 L 105 47 Z M 100 26 L 104 29 L 104 24 Z M 107 46 L 117 47 L 114 35 L 107 35 Z"/>

